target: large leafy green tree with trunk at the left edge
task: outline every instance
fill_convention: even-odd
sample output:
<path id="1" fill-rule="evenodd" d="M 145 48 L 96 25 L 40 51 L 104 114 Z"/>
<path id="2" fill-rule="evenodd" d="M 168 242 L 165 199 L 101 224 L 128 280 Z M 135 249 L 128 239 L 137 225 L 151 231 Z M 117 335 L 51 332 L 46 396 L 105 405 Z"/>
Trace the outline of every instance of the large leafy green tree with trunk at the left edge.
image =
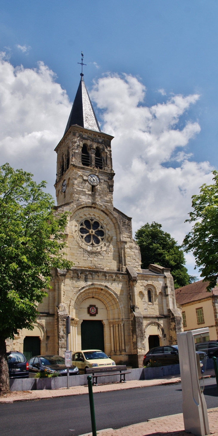
<path id="1" fill-rule="evenodd" d="M 32 177 L 0 167 L 0 393 L 9 390 L 5 339 L 33 328 L 51 269 L 72 266 L 64 254 L 68 213 L 55 217 L 46 182 Z"/>

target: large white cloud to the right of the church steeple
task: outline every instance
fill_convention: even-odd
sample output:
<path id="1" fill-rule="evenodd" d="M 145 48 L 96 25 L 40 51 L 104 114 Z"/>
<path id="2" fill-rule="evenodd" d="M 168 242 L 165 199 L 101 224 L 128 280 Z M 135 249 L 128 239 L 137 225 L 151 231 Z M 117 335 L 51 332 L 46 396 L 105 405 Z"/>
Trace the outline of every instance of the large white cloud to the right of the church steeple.
<path id="1" fill-rule="evenodd" d="M 191 196 L 212 180 L 211 165 L 189 160 L 192 155 L 185 149 L 200 132 L 199 124 L 187 118 L 183 127 L 178 126 L 199 95 L 174 95 L 166 103 L 147 107 L 145 92 L 131 75 L 100 78 L 91 92 L 102 111 L 102 130 L 115 136 L 114 203 L 133 217 L 133 231 L 157 221 L 181 243 L 189 230 L 184 221 Z"/>

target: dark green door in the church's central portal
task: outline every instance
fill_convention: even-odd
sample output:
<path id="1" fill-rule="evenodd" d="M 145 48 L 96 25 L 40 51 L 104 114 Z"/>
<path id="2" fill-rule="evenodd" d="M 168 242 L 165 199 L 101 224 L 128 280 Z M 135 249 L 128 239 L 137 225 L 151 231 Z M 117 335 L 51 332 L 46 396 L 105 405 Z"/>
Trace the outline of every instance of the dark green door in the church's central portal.
<path id="1" fill-rule="evenodd" d="M 83 320 L 81 324 L 82 350 L 91 348 L 105 351 L 102 321 Z"/>

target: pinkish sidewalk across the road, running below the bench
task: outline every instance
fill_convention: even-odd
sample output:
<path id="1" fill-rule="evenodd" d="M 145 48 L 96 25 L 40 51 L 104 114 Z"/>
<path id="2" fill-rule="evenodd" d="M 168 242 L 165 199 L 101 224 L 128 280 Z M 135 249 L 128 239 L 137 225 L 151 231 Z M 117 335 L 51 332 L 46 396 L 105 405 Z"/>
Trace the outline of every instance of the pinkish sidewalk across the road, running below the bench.
<path id="1" fill-rule="evenodd" d="M 180 383 L 180 376 L 169 375 L 164 378 L 155 378 L 153 380 L 130 380 L 126 383 L 111 383 L 107 385 L 93 386 L 95 392 L 119 391 L 122 389 L 145 388 L 146 386 L 170 385 Z M 68 395 L 83 395 L 88 394 L 88 386 L 73 386 L 72 388 L 61 389 L 44 389 L 40 391 L 16 391 L 10 392 L 3 397 L 0 397 L 0 403 L 13 403 L 15 401 L 30 401 L 48 398 L 64 397 Z"/>

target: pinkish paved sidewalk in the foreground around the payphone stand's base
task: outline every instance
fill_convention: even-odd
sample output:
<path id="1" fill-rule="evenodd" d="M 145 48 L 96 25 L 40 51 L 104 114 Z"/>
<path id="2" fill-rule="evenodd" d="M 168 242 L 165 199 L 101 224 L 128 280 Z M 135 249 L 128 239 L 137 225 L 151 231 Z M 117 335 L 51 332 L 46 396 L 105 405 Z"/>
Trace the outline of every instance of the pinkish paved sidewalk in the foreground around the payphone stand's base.
<path id="1" fill-rule="evenodd" d="M 218 407 L 208 409 L 210 432 L 218 436 Z M 182 413 L 177 415 L 161 416 L 160 418 L 149 419 L 140 424 L 123 427 L 118 430 L 106 429 L 97 431 L 99 436 L 194 436 L 192 433 L 185 433 Z M 80 436 L 92 436 L 86 433 Z"/>

